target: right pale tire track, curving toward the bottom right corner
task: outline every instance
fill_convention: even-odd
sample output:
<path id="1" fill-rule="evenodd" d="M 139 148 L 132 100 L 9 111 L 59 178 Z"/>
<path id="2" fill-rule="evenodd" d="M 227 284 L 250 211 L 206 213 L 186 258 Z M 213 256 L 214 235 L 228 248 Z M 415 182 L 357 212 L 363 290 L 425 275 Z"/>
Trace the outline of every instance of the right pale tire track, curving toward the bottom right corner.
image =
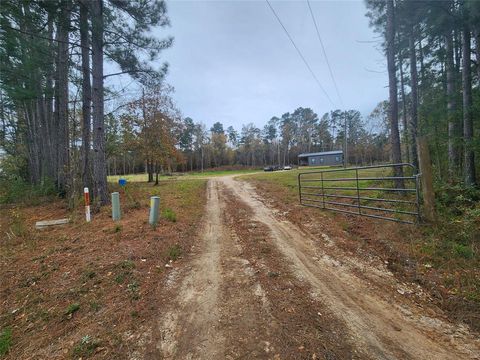
<path id="1" fill-rule="evenodd" d="M 318 258 L 314 239 L 288 221 L 276 219 L 247 183 L 233 177 L 219 179 L 252 210 L 252 218 L 265 224 L 275 245 L 291 262 L 298 278 L 307 281 L 321 300 L 343 320 L 358 349 L 379 359 L 478 359 L 478 340 L 465 336 L 447 337 L 441 320 L 416 323 L 392 302 L 371 293 L 364 281 Z M 315 259 L 313 259 L 315 257 Z"/>

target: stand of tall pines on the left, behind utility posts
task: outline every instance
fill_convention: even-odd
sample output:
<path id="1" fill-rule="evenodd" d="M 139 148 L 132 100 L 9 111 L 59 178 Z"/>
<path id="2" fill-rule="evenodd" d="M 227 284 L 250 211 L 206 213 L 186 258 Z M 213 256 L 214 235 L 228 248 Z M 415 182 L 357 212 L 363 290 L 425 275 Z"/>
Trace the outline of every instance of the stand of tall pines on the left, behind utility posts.
<path id="1" fill-rule="evenodd" d="M 105 79 L 161 83 L 166 65 L 150 64 L 173 40 L 150 30 L 168 24 L 160 0 L 3 0 L 2 167 L 63 195 L 89 186 L 107 203 Z M 104 62 L 119 71 L 106 74 Z"/>

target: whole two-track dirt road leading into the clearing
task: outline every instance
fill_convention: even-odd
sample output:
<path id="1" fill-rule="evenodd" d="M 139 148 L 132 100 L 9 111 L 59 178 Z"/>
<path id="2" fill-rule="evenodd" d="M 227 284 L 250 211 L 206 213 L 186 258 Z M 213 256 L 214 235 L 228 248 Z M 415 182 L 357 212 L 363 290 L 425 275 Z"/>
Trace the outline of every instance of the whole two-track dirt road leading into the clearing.
<path id="1" fill-rule="evenodd" d="M 246 182 L 209 181 L 199 234 L 190 266 L 170 270 L 163 358 L 480 359 L 468 329 L 399 297 L 385 269 L 336 259 L 327 235 L 281 219 Z"/>

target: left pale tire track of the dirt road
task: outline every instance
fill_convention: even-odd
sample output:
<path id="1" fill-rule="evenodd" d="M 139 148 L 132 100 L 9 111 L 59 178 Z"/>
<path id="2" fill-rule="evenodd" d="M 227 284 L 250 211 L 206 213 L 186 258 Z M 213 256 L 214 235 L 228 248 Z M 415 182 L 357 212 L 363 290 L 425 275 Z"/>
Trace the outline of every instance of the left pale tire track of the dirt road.
<path id="1" fill-rule="evenodd" d="M 220 239 L 223 224 L 216 184 L 207 188 L 207 212 L 202 252 L 183 278 L 172 309 L 162 318 L 157 349 L 167 359 L 222 359 L 224 337 L 217 311 L 220 273 Z"/>

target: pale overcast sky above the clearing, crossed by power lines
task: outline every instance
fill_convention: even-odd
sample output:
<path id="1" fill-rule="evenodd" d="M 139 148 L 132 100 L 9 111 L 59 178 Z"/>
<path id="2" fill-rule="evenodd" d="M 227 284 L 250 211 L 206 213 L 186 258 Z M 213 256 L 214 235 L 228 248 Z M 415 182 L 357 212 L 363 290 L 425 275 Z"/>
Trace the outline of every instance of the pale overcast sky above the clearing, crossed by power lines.
<path id="1" fill-rule="evenodd" d="M 385 61 L 363 1 L 311 1 L 343 106 L 336 95 L 306 1 L 271 1 L 335 105 L 312 78 L 265 1 L 167 1 L 174 36 L 162 53 L 184 116 L 210 127 L 253 122 L 311 107 L 368 114 L 387 98 Z M 367 42 L 365 42 L 367 41 Z"/>

